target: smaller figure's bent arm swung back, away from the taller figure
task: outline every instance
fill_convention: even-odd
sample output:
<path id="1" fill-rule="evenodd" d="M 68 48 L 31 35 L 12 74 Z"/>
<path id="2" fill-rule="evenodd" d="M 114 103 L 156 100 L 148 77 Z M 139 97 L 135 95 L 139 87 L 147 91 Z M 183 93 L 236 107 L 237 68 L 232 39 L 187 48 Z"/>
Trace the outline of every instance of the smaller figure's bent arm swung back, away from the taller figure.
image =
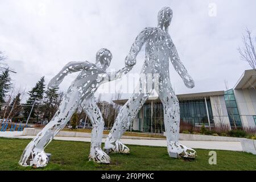
<path id="1" fill-rule="evenodd" d="M 64 77 L 68 74 L 82 71 L 89 68 L 90 63 L 88 61 L 72 61 L 66 64 L 61 71 L 52 78 L 48 84 L 48 88 L 55 88 L 59 86 Z"/>

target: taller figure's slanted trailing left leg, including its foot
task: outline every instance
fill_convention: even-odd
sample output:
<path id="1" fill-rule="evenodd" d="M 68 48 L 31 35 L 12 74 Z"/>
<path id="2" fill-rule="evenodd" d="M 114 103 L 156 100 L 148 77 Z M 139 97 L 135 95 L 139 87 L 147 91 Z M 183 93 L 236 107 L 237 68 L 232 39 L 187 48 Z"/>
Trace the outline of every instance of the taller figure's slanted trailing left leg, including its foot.
<path id="1" fill-rule="evenodd" d="M 149 95 L 149 93 L 135 93 L 122 107 L 115 119 L 114 126 L 106 139 L 104 149 L 107 152 L 113 151 L 129 154 L 129 148 L 119 139 L 122 137 L 123 133 L 129 129 L 131 121 L 136 117 Z"/>

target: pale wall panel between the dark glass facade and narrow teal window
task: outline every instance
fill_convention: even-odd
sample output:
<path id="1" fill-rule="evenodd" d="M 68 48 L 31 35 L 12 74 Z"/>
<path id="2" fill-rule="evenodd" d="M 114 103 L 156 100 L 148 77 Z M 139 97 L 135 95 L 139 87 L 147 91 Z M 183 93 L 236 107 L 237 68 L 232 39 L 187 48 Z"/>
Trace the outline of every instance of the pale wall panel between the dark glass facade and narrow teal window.
<path id="1" fill-rule="evenodd" d="M 212 106 L 213 121 L 215 126 L 227 126 L 231 130 L 228 110 L 224 96 L 210 97 L 210 105 Z"/>

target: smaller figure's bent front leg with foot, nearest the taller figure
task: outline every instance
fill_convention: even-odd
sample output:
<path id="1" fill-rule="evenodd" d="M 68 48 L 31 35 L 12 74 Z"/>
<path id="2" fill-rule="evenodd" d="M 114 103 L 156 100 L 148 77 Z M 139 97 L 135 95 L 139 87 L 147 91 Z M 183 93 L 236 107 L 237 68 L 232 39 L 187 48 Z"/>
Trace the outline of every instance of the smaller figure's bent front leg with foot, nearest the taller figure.
<path id="1" fill-rule="evenodd" d="M 109 164 L 110 157 L 101 150 L 102 135 L 104 131 L 104 119 L 102 118 L 101 111 L 98 108 L 94 97 L 84 100 L 81 105 L 93 125 L 89 160 L 93 160 L 97 163 Z"/>

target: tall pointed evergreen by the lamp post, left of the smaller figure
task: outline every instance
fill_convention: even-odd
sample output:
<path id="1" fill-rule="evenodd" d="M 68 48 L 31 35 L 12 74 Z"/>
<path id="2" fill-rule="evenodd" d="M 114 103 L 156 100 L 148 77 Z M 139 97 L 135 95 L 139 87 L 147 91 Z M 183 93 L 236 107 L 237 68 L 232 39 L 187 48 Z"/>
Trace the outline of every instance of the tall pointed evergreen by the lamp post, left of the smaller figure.
<path id="1" fill-rule="evenodd" d="M 30 90 L 30 92 L 28 92 L 28 95 L 30 96 L 26 102 L 26 105 L 30 105 L 30 107 L 26 107 L 26 109 L 24 109 L 24 116 L 28 117 L 28 115 L 30 114 L 30 110 L 31 110 L 31 106 L 34 104 L 35 102 L 35 106 L 34 109 L 32 110 L 31 113 L 31 117 L 34 118 L 35 117 L 35 110 L 38 108 L 38 105 L 42 102 L 43 97 L 44 97 L 44 88 L 46 87 L 46 85 L 44 84 L 44 77 L 40 78 L 40 80 L 36 83 L 35 87 L 32 88 Z M 36 115 L 38 116 L 38 112 L 36 113 Z"/>

